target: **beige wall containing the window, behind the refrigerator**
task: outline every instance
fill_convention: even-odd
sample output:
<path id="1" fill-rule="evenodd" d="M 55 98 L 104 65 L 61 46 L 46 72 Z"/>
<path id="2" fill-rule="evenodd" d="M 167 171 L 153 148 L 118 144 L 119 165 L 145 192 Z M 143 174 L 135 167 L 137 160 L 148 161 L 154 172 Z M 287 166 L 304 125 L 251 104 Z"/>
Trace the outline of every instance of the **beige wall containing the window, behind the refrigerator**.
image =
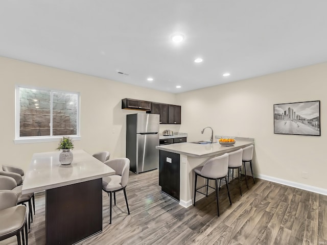
<path id="1" fill-rule="evenodd" d="M 35 152 L 55 151 L 58 142 L 15 144 L 15 85 L 52 88 L 81 94 L 81 140 L 75 149 L 90 154 L 107 150 L 111 158 L 125 157 L 126 114 L 140 111 L 122 110 L 125 97 L 175 104 L 176 95 L 106 79 L 86 76 L 0 57 L 2 84 L 1 141 L 2 163 L 18 165 L 27 170 Z M 160 126 L 160 131 L 167 126 Z M 179 126 L 169 128 L 178 131 Z M 1 165 L 1 163 L 0 163 Z"/>

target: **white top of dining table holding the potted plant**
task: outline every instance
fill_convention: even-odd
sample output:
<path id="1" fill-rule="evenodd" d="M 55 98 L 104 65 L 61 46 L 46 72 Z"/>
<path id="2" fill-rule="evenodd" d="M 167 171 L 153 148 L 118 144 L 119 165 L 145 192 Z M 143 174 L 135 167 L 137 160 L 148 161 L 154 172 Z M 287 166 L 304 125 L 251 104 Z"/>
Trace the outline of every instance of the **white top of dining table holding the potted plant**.
<path id="1" fill-rule="evenodd" d="M 48 190 L 114 175 L 115 171 L 83 150 L 73 150 L 70 165 L 61 165 L 60 152 L 34 153 L 22 185 L 22 194 Z"/>

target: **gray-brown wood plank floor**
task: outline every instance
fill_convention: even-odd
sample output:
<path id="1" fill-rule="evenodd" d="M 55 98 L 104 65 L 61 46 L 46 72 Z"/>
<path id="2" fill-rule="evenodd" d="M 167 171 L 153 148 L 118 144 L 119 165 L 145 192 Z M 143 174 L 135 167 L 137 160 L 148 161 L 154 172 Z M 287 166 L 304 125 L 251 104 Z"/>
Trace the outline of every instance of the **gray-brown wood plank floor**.
<path id="1" fill-rule="evenodd" d="M 327 245 L 327 196 L 260 179 L 248 183 L 249 190 L 242 181 L 242 197 L 237 180 L 230 183 L 232 205 L 227 197 L 220 199 L 217 217 L 214 194 L 185 209 L 160 191 L 158 170 L 130 173 L 130 215 L 118 192 L 109 225 L 109 198 L 103 192 L 103 232 L 78 244 Z M 226 194 L 225 187 L 220 194 Z M 45 244 L 44 194 L 35 202 L 29 244 Z M 16 244 L 16 239 L 3 244 Z"/>

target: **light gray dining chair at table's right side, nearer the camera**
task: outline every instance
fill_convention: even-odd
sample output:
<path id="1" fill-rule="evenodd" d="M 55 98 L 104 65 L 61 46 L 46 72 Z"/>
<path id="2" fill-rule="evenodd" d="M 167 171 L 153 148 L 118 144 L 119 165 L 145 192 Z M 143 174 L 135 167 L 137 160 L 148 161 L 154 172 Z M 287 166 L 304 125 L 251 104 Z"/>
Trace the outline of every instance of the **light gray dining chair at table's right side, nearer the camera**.
<path id="1" fill-rule="evenodd" d="M 104 162 L 107 166 L 111 167 L 115 170 L 115 175 L 110 175 L 102 178 L 102 189 L 108 193 L 108 197 L 110 198 L 110 222 L 111 224 L 111 213 L 112 213 L 112 193 L 114 199 L 114 205 L 116 205 L 116 192 L 123 190 L 127 211 L 129 213 L 129 207 L 127 202 L 126 195 L 126 185 L 129 177 L 129 159 L 128 158 L 115 158 L 112 160 L 107 160 Z"/>

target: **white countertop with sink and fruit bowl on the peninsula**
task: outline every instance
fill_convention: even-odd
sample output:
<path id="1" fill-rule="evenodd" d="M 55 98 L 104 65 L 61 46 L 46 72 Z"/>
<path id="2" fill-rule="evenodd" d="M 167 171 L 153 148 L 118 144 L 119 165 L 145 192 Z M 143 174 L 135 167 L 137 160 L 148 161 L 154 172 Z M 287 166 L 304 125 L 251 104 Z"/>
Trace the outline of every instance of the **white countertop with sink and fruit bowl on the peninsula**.
<path id="1" fill-rule="evenodd" d="M 178 144 L 158 145 L 156 146 L 156 149 L 190 157 L 202 158 L 236 151 L 251 144 L 254 144 L 253 138 L 236 138 L 236 142 L 232 146 L 224 146 L 218 142 L 213 144 L 184 142 Z"/>

